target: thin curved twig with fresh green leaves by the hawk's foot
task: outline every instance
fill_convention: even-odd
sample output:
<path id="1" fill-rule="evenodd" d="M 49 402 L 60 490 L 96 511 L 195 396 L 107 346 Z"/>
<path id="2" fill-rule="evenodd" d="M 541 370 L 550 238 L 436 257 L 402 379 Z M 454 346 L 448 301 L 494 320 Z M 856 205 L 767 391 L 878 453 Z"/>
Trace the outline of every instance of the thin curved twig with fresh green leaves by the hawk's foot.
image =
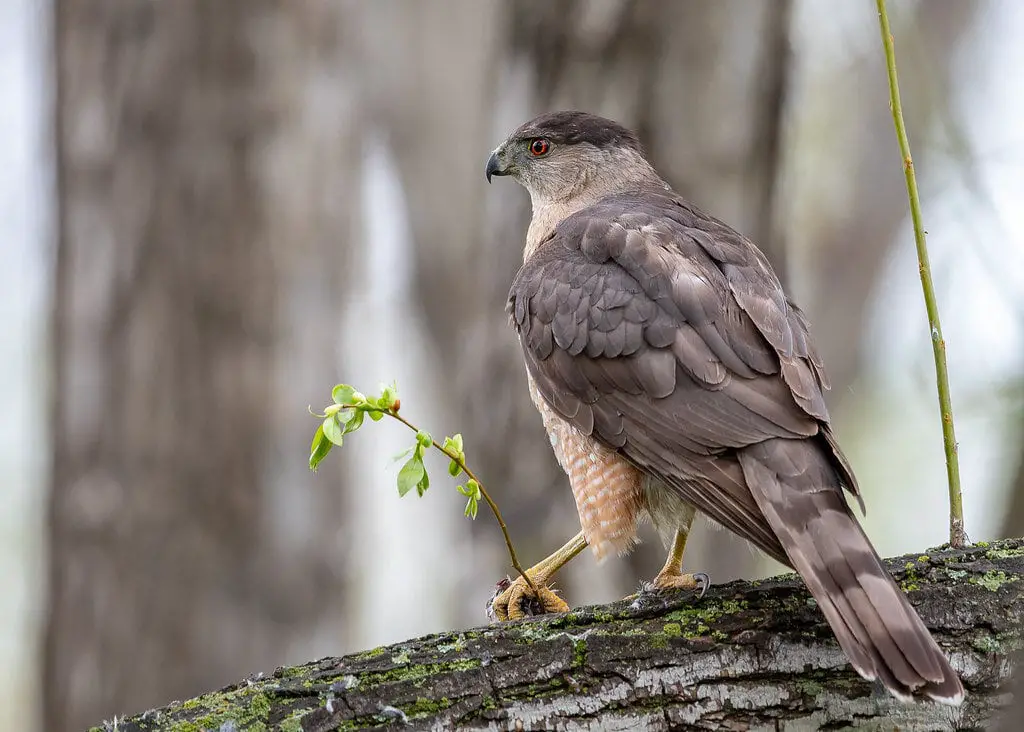
<path id="1" fill-rule="evenodd" d="M 508 550 L 512 566 L 534 594 L 538 598 L 541 597 L 534 580 L 530 579 L 529 575 L 526 574 L 526 570 L 519 563 L 515 546 L 512 544 L 512 537 L 509 535 L 508 526 L 505 524 L 502 512 L 498 509 L 498 504 L 490 498 L 490 494 L 483 487 L 483 483 L 480 482 L 476 474 L 466 465 L 466 456 L 462 449 L 461 435 L 446 437 L 444 442 L 440 443 L 431 437 L 429 433 L 424 432 L 399 415 L 398 410 L 401 407 L 401 401 L 398 399 L 397 389 L 393 386 L 384 387 L 379 397 L 367 397 L 347 384 L 339 384 L 334 388 L 332 396 L 335 403 L 327 407 L 325 414 L 314 414 L 314 416 L 323 418 L 324 423 L 316 429 L 316 434 L 313 435 L 312 447 L 309 454 L 309 467 L 311 469 L 316 469 L 316 466 L 331 450 L 332 445 L 341 445 L 344 435 L 354 432 L 361 426 L 362 415 L 369 415 L 370 419 L 374 422 L 379 421 L 385 415 L 396 422 L 400 422 L 416 433 L 416 444 L 410 448 L 413 457 L 410 458 L 398 474 L 399 494 L 404 496 L 413 487 L 417 488 L 420 496 L 426 491 L 430 482 L 426 469 L 423 467 L 423 448 L 432 446 L 438 449 L 451 461 L 449 472 L 453 477 L 459 475 L 459 473 L 466 473 L 469 477 L 465 488 L 461 485 L 459 486 L 459 491 L 468 499 L 466 515 L 476 518 L 477 501 L 480 498 L 484 500 L 490 509 L 490 513 L 494 514 L 495 520 L 498 521 L 498 527 L 505 539 L 505 548 Z"/>

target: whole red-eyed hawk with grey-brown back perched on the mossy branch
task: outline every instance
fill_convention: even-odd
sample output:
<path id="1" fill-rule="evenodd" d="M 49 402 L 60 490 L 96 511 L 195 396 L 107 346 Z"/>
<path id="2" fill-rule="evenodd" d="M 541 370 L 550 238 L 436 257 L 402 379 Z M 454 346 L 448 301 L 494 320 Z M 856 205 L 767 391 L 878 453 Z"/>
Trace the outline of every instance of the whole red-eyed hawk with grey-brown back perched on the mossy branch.
<path id="1" fill-rule="evenodd" d="M 519 127 L 487 160 L 534 216 L 508 309 L 529 390 L 589 544 L 628 551 L 649 516 L 681 573 L 693 509 L 794 567 L 853 666 L 896 696 L 956 704 L 964 687 L 854 518 L 863 501 L 833 434 L 803 313 L 750 241 L 673 192 L 636 135 L 579 112 Z M 692 508 L 691 508 L 692 507 Z M 518 579 L 496 600 L 516 616 Z"/>

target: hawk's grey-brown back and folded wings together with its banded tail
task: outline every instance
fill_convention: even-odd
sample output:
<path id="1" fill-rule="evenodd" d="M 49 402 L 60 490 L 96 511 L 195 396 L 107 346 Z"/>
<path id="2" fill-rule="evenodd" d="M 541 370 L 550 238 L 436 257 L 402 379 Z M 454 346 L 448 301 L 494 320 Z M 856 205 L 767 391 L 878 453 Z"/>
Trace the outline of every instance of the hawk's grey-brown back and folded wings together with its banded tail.
<path id="1" fill-rule="evenodd" d="M 548 403 L 795 567 L 863 676 L 963 696 L 850 511 L 807 322 L 750 242 L 665 192 L 610 197 L 530 256 L 509 310 Z"/>

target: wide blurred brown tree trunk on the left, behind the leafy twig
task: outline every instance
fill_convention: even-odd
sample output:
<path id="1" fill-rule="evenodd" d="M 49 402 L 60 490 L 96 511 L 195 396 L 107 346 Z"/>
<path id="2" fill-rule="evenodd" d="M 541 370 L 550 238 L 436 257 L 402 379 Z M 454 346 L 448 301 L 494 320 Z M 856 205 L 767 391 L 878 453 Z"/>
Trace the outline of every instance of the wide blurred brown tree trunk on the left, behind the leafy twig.
<path id="1" fill-rule="evenodd" d="M 279 434 L 331 383 L 333 339 L 294 332 L 341 290 L 357 170 L 344 7 L 302 7 L 56 3 L 48 731 L 338 633 L 337 483 Z"/>

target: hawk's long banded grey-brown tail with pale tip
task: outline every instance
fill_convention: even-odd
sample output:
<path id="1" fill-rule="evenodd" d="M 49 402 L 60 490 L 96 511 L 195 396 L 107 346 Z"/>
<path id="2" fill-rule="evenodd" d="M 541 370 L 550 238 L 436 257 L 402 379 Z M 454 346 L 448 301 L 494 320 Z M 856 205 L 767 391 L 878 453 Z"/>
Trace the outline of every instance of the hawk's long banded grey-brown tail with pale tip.
<path id="1" fill-rule="evenodd" d="M 899 698 L 958 704 L 963 684 L 851 513 L 823 446 L 770 439 L 739 463 L 853 668 Z"/>

